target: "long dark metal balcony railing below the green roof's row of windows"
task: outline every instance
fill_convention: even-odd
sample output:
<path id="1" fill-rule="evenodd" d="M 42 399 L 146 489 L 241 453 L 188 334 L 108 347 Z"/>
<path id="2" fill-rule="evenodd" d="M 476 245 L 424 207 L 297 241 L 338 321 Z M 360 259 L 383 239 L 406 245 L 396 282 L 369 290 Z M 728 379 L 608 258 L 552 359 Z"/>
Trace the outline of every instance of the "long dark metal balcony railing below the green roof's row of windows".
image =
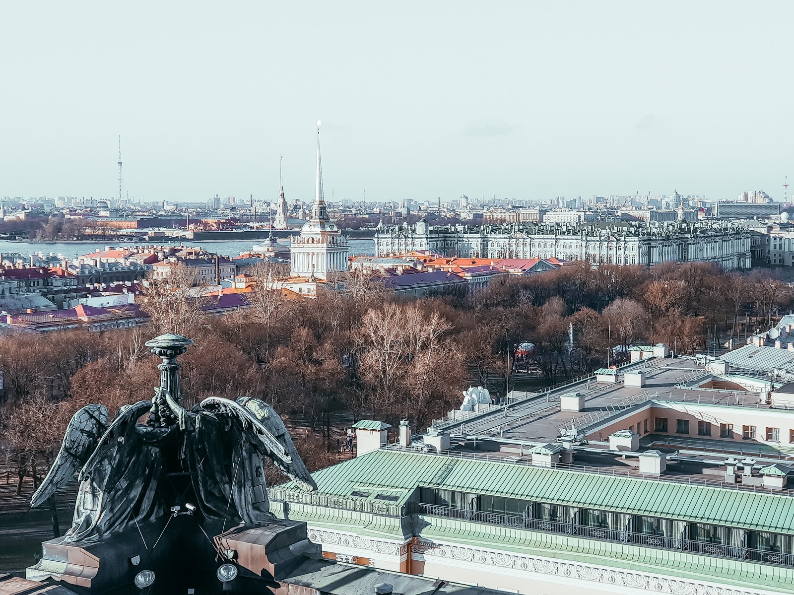
<path id="1" fill-rule="evenodd" d="M 408 504 L 407 509 L 411 514 L 442 516 L 449 519 L 468 520 L 472 523 L 500 525 L 502 527 L 518 528 L 526 531 L 543 531 L 546 533 L 572 535 L 587 539 L 598 539 L 599 541 L 631 543 L 638 546 L 658 547 L 664 550 L 687 551 L 693 554 L 705 554 L 719 558 L 734 558 L 750 562 L 776 564 L 778 566 L 794 566 L 794 555 L 792 554 L 768 550 L 755 550 L 750 547 L 727 545 L 724 543 L 695 541 L 693 539 L 682 539 L 648 533 L 635 533 L 634 531 L 611 529 L 608 527 L 591 527 L 574 522 L 565 523 L 554 520 L 533 519 L 529 516 L 504 515 L 498 512 L 462 510 L 461 508 L 451 508 L 436 504 L 422 504 L 420 502 Z"/>

